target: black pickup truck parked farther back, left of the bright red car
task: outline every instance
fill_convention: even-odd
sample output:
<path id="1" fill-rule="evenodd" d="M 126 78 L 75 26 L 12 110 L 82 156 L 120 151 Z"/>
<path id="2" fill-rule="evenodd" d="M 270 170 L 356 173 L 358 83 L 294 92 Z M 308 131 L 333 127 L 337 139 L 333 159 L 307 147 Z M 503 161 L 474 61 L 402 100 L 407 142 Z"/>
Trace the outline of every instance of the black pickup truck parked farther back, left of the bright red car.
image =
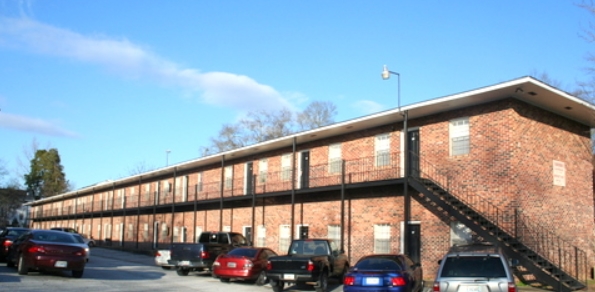
<path id="1" fill-rule="evenodd" d="M 210 271 L 218 255 L 249 245 L 249 241 L 237 232 L 203 232 L 197 243 L 172 244 L 168 263 L 180 276 L 187 276 L 191 271 Z"/>

